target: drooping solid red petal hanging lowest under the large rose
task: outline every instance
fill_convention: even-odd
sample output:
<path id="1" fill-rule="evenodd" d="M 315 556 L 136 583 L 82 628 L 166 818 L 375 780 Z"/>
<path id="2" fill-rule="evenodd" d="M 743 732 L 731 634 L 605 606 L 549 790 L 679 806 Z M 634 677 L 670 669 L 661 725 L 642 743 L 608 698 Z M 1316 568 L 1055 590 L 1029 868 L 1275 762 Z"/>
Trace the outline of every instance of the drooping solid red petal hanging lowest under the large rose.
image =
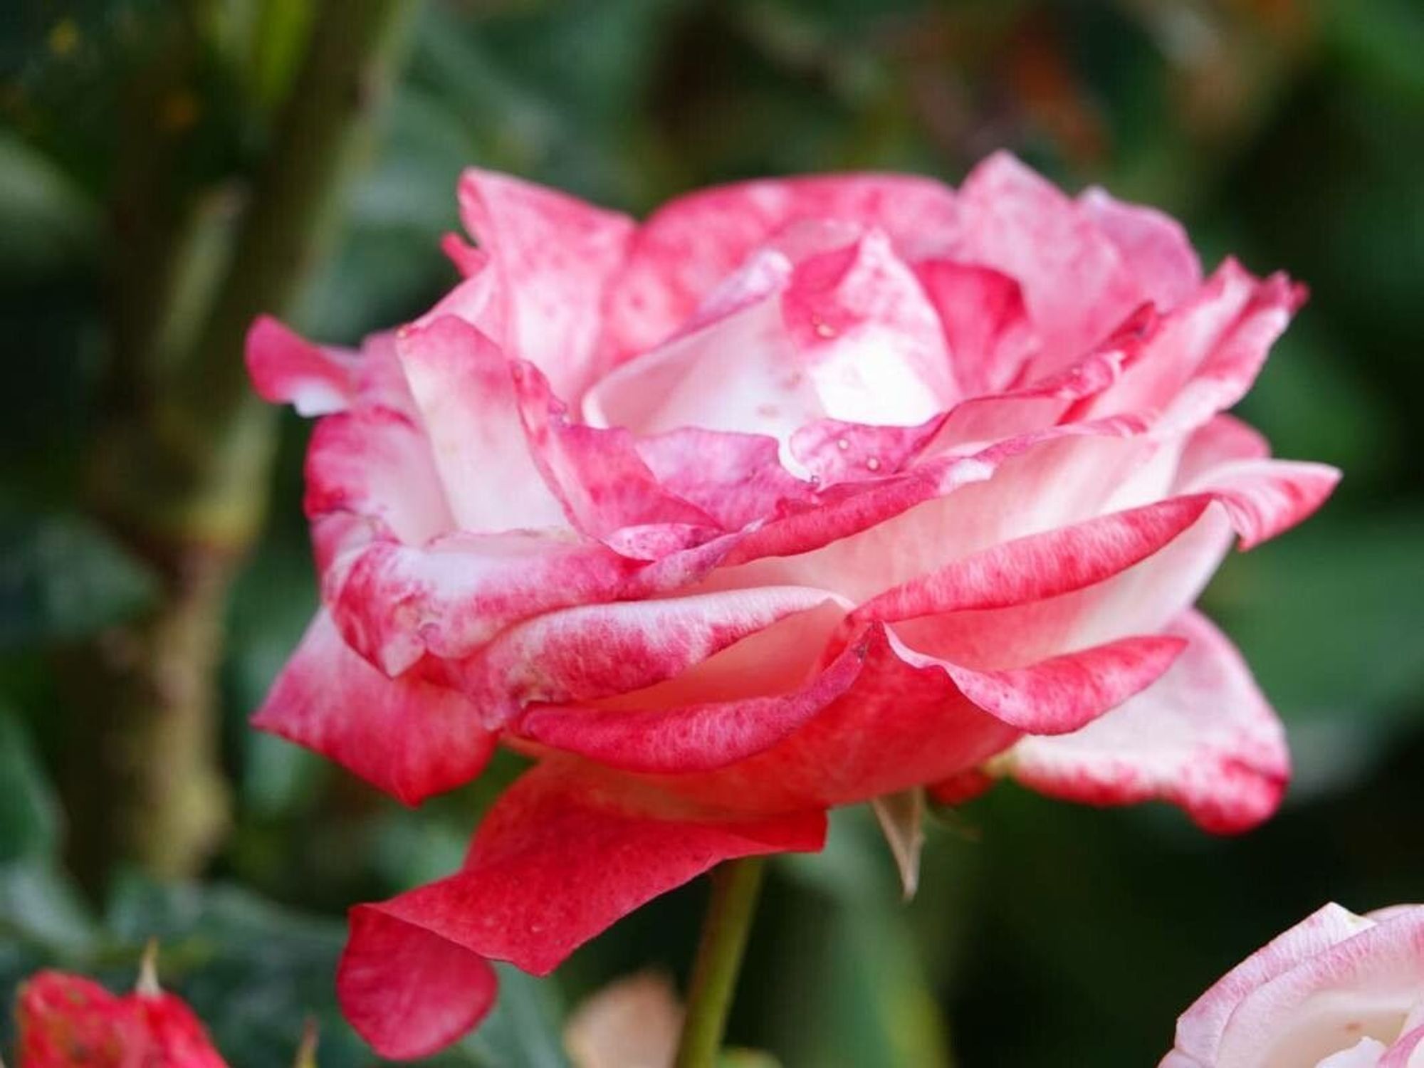
<path id="1" fill-rule="evenodd" d="M 642 815 L 571 769 L 527 773 L 486 817 L 466 867 L 352 910 L 342 1008 L 386 1057 L 423 1057 L 493 1001 L 488 960 L 545 974 L 658 894 L 742 856 L 817 850 L 817 812 L 749 822 Z"/>

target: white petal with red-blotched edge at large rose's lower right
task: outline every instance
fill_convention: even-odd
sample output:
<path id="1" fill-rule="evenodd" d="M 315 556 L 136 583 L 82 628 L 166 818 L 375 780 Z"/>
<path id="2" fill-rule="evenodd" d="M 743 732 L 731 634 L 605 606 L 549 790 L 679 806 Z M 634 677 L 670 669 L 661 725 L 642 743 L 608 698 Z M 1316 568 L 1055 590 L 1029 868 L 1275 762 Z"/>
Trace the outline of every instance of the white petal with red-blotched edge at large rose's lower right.
<path id="1" fill-rule="evenodd" d="M 1290 776 L 1280 722 L 1203 617 L 1188 612 L 1168 634 L 1186 651 L 1161 681 L 1077 733 L 1025 738 L 1002 769 L 1055 797 L 1169 800 L 1220 833 L 1266 819 Z"/>

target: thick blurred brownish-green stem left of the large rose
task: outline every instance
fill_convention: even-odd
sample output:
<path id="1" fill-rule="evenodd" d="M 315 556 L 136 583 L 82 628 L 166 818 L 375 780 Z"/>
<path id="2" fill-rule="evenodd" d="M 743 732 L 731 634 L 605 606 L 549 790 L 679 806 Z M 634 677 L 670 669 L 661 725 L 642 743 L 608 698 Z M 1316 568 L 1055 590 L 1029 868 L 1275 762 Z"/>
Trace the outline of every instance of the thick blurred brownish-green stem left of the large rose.
<path id="1" fill-rule="evenodd" d="M 281 315 L 295 302 L 416 6 L 320 0 L 232 259 L 211 310 L 197 312 L 197 343 L 174 353 L 167 373 L 138 366 L 142 359 L 118 363 L 128 387 L 115 389 L 103 413 L 88 504 L 152 567 L 161 594 L 140 618 L 61 652 L 73 726 L 64 769 L 68 854 L 91 890 L 117 864 L 191 876 L 226 827 L 215 685 L 222 617 L 261 527 L 275 444 L 273 413 L 246 384 L 242 343 L 256 315 Z M 164 234 L 182 236 L 181 228 Z M 120 268 L 128 251 L 114 242 Z M 174 262 L 167 249 L 152 258 Z M 150 325 L 125 345 L 124 325 L 164 322 L 174 299 L 167 285 L 118 293 L 125 296 L 161 306 L 115 315 L 120 356 L 157 329 Z M 152 377 L 134 389 L 135 375 Z"/>

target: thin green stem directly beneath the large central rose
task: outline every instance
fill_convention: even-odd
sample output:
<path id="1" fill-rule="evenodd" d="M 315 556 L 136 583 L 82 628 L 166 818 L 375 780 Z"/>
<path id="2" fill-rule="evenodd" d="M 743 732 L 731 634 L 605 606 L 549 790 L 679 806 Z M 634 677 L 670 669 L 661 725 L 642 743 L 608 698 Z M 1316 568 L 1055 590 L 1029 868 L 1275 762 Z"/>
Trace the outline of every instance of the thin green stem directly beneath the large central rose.
<path id="1" fill-rule="evenodd" d="M 692 967 L 676 1068 L 713 1068 L 716 1064 L 765 867 L 763 857 L 743 857 L 712 871 L 712 900 Z"/>

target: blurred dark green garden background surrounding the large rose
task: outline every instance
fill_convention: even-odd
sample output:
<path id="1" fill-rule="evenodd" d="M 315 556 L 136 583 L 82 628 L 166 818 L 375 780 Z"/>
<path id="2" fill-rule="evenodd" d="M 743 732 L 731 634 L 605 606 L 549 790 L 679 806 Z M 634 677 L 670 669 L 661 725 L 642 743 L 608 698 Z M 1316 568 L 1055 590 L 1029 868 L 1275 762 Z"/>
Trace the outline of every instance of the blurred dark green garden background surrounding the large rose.
<path id="1" fill-rule="evenodd" d="M 315 588 L 308 427 L 252 403 L 258 310 L 356 342 L 454 281 L 459 169 L 635 214 L 706 182 L 1008 147 L 1313 298 L 1242 413 L 1347 477 L 1206 609 L 1286 719 L 1284 810 L 1000 786 L 899 901 L 863 813 L 778 862 L 732 1040 L 787 1068 L 1141 1068 L 1326 900 L 1424 899 L 1424 7 L 1417 0 L 10 0 L 0 14 L 0 1001 L 40 965 L 165 981 L 234 1065 L 373 1058 L 342 914 L 453 870 L 517 772 L 402 809 L 245 726 Z M 567 1008 L 685 974 L 686 887 L 534 981 L 447 1065 L 562 1065 Z M 11 1040 L 0 1025 L 0 1049 Z"/>

